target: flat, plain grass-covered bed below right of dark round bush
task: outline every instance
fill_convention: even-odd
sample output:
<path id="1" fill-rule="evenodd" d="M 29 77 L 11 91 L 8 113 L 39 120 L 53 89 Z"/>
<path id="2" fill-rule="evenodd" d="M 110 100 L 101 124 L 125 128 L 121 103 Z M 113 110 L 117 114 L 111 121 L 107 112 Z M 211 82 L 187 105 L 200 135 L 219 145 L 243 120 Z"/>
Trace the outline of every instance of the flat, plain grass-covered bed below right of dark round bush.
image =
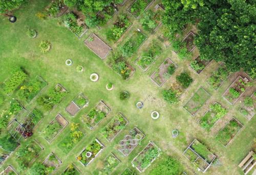
<path id="1" fill-rule="evenodd" d="M 200 87 L 192 98 L 184 105 L 185 110 L 194 116 L 200 107 L 210 98 L 210 94 Z"/>

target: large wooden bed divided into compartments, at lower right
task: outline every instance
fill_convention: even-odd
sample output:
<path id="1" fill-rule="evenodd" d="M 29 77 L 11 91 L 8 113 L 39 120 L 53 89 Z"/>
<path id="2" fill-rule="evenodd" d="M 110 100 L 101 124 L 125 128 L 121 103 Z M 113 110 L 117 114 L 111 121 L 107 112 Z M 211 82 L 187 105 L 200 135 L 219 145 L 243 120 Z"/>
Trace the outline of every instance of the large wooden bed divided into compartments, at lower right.
<path id="1" fill-rule="evenodd" d="M 212 154 L 209 149 L 197 139 L 195 139 L 183 152 L 190 162 L 197 166 L 202 172 L 206 172 L 216 156 Z"/>

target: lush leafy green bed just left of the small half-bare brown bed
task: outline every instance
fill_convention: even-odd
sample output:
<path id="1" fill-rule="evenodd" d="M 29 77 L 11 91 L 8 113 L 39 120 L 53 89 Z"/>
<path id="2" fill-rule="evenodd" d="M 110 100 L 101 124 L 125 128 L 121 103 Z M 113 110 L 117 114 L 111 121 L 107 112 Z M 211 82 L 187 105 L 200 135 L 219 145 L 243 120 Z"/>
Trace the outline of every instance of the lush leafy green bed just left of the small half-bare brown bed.
<path id="1" fill-rule="evenodd" d="M 57 84 L 54 88 L 51 88 L 47 94 L 37 98 L 37 102 L 42 105 L 45 110 L 49 111 L 58 104 L 67 93 L 68 92 L 60 84 Z"/>

